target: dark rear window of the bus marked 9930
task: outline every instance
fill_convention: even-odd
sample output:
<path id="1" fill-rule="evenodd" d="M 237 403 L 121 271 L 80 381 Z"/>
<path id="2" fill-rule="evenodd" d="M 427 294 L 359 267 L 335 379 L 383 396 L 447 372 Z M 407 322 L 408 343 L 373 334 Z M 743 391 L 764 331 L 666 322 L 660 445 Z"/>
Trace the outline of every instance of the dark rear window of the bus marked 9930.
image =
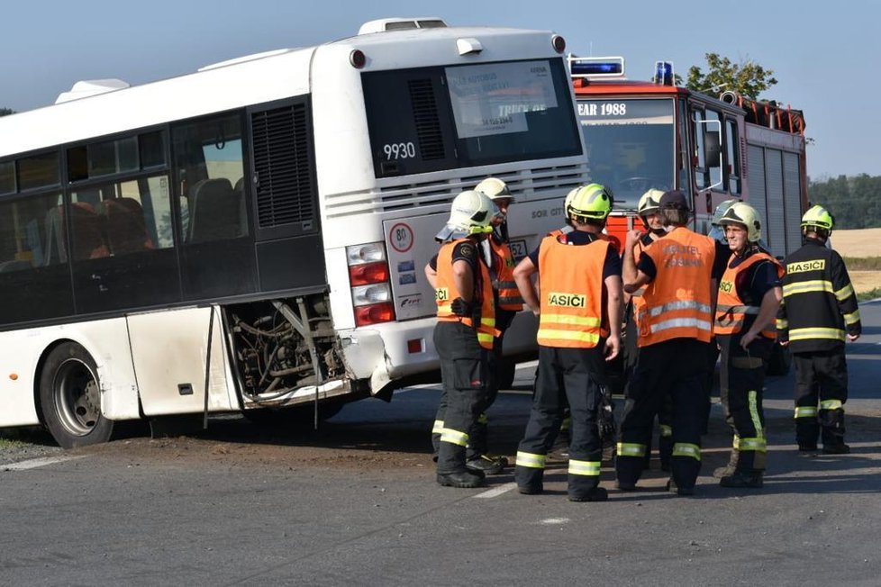
<path id="1" fill-rule="evenodd" d="M 362 74 L 377 177 L 581 154 L 561 59 Z"/>

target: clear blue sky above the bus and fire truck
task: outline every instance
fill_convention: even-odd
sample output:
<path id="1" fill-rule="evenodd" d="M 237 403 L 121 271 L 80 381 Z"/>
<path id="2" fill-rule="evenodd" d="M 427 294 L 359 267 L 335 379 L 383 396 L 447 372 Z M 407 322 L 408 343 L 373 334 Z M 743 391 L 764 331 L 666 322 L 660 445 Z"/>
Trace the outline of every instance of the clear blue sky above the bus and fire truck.
<path id="1" fill-rule="evenodd" d="M 5 3 L 2 14 L 0 107 L 17 111 L 51 104 L 80 79 L 142 84 L 347 37 L 375 18 L 440 16 L 553 30 L 578 55 L 622 55 L 631 78 L 649 78 L 658 59 L 683 77 L 706 52 L 754 59 L 779 81 L 762 97 L 804 110 L 813 179 L 881 176 L 881 3 L 872 0 L 52 0 Z"/>

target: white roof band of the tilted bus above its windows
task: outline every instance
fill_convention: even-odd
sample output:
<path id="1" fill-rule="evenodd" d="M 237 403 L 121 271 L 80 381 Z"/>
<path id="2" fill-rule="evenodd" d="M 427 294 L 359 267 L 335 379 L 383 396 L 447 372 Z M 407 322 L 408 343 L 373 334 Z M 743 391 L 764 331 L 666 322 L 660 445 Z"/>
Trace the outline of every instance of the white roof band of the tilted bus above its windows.
<path id="1" fill-rule="evenodd" d="M 463 39 L 479 41 L 480 49 L 468 54 L 470 62 L 508 59 L 514 52 L 558 56 L 551 46 L 552 34 L 491 27 L 370 32 L 309 48 L 229 59 L 140 86 L 94 85 L 96 91 L 84 92 L 86 97 L 0 117 L 0 158 L 304 95 L 314 83 L 310 68 L 316 53 L 327 52 L 338 71 L 358 73 L 456 63 L 464 55 L 456 41 Z M 412 43 L 419 43 L 420 50 L 405 49 Z M 368 58 L 364 68 L 350 66 L 350 51 L 356 49 Z"/>

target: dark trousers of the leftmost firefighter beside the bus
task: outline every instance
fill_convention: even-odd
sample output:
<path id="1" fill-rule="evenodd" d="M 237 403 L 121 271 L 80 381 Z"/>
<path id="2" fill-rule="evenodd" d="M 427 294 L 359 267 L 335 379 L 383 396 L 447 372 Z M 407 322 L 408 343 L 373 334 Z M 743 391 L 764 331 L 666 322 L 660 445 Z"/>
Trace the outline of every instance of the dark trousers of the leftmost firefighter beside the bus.
<path id="1" fill-rule="evenodd" d="M 477 342 L 476 330 L 460 323 L 439 321 L 434 348 L 440 357 L 442 398 L 446 406 L 438 447 L 438 474 L 465 472 L 468 431 L 474 426 L 489 390 L 492 351 Z"/>

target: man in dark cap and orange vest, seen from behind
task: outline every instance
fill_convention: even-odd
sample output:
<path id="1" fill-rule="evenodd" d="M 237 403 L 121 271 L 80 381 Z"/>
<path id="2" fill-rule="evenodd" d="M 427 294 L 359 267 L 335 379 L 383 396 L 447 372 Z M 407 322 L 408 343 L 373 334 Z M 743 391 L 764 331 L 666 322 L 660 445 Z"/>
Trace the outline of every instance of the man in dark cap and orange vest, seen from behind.
<path id="1" fill-rule="evenodd" d="M 715 247 L 709 237 L 686 228 L 690 212 L 682 192 L 665 192 L 659 211 L 668 234 L 642 252 L 639 265 L 633 250 L 640 230 L 630 230 L 624 245 L 624 291 L 645 287 L 645 305 L 637 320 L 640 359 L 624 404 L 615 472 L 620 490 L 636 489 L 655 414 L 669 395 L 673 456 L 668 490 L 692 495 L 701 468 L 703 357 L 712 334 Z"/>

